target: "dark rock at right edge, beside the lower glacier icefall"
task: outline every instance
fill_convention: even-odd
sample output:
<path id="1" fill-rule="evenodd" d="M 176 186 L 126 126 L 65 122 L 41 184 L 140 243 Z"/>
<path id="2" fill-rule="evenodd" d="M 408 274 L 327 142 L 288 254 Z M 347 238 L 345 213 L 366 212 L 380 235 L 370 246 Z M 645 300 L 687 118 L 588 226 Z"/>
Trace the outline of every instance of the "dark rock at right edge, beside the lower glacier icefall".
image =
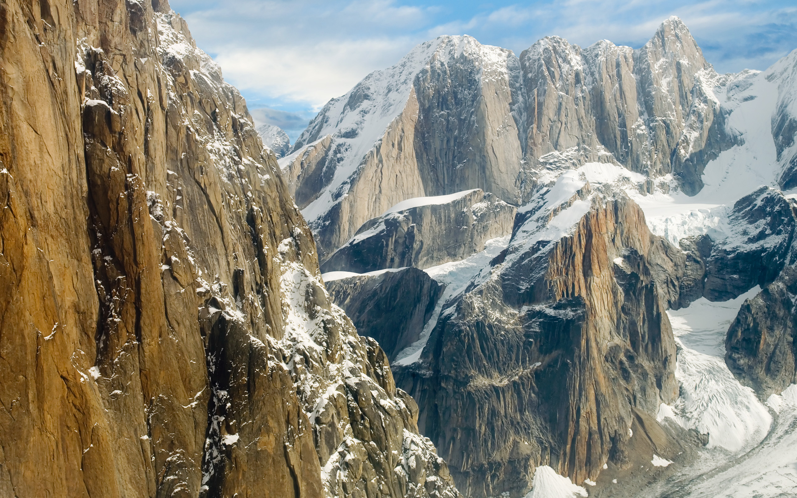
<path id="1" fill-rule="evenodd" d="M 761 399 L 797 383 L 797 267 L 742 305 L 725 340 L 725 363 Z"/>

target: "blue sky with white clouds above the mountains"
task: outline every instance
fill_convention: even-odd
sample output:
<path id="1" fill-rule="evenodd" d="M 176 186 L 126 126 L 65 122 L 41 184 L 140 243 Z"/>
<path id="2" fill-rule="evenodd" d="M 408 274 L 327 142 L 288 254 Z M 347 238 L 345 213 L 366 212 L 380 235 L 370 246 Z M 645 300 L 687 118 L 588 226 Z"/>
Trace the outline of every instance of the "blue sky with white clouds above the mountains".
<path id="1" fill-rule="evenodd" d="M 171 0 L 171 7 L 249 108 L 274 109 L 263 115 L 289 127 L 291 140 L 329 99 L 442 34 L 469 34 L 518 55 L 548 35 L 638 48 L 677 15 L 720 73 L 763 70 L 797 49 L 794 0 Z"/>

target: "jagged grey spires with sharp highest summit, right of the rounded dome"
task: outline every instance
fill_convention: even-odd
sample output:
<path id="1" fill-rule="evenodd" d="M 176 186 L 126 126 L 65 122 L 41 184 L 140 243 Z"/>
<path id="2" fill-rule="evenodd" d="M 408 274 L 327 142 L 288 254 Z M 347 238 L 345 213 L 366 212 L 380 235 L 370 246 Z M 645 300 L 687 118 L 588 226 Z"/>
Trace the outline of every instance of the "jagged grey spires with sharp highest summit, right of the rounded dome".
<path id="1" fill-rule="evenodd" d="M 677 174 L 693 195 L 705 163 L 735 143 L 711 90 L 717 73 L 680 19 L 662 23 L 639 50 L 546 37 L 520 54 L 520 65 L 532 164 L 572 151 L 576 163 Z"/>

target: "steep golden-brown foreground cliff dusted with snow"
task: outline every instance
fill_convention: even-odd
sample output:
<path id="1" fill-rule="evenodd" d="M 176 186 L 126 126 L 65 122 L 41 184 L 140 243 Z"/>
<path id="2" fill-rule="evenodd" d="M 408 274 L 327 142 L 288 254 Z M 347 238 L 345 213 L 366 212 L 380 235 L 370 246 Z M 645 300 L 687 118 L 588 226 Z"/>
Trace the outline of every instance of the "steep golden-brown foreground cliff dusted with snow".
<path id="1" fill-rule="evenodd" d="M 3 496 L 456 496 L 185 22 L 34 5 L 0 9 Z"/>

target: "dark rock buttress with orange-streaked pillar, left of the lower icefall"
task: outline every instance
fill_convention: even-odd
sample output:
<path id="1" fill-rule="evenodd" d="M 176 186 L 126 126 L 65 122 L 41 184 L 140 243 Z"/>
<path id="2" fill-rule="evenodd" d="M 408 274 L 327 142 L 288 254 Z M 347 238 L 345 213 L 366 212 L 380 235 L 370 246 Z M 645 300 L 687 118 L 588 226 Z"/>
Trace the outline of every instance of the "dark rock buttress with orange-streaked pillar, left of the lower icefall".
<path id="1" fill-rule="evenodd" d="M 517 229 L 492 273 L 443 312 L 421 361 L 395 367 L 466 496 L 522 496 L 537 465 L 579 483 L 607 461 L 630 465 L 633 410 L 677 397 L 650 262 L 661 239 L 634 202 L 592 199 L 571 200 L 593 204 L 561 239 Z"/>

